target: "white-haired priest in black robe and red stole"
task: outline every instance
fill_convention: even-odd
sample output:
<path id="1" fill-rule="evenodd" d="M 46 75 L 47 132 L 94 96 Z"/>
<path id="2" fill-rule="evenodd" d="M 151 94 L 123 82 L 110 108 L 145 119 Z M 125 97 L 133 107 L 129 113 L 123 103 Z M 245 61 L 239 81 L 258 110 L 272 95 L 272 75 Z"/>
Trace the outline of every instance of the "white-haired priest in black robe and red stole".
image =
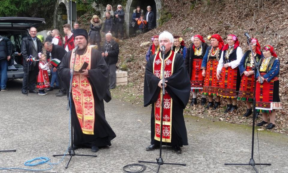
<path id="1" fill-rule="evenodd" d="M 171 75 L 165 74 L 165 90 L 173 100 L 172 104 L 166 104 L 166 106 L 169 106 L 170 104 L 172 105 L 172 130 L 170 132 L 171 142 L 165 142 L 165 139 L 162 140 L 162 142 L 163 145 L 172 146 L 173 151 L 175 151 L 176 153 L 182 153 L 180 147 L 182 147 L 183 145 L 188 145 L 183 109 L 186 107 L 190 97 L 190 79 L 187 70 L 185 69 L 182 55 L 175 53 L 171 50 L 171 48 L 173 47 L 173 35 L 167 31 L 164 31 L 162 34 L 159 35 L 159 42 L 160 47 L 165 46 L 165 65 L 170 65 L 170 63 L 174 63 L 172 66 L 173 70 L 167 70 L 168 72 L 173 71 L 173 73 Z M 161 49 L 161 51 L 163 50 Z M 152 104 L 151 145 L 146 148 L 147 151 L 153 151 L 159 148 L 160 144 L 160 139 L 158 138 L 158 140 L 156 140 L 157 137 L 155 136 L 155 131 L 157 129 L 155 128 L 155 109 L 157 105 L 158 107 L 160 107 L 159 105 L 161 105 L 159 103 L 159 100 L 161 97 L 160 94 L 162 95 L 162 79 L 160 77 L 160 74 L 157 74 L 157 71 L 160 70 L 156 70 L 156 66 L 159 65 L 159 63 L 162 64 L 163 62 L 163 60 L 159 59 L 159 57 L 161 58 L 161 54 L 162 52 L 152 55 L 146 64 L 144 79 L 144 106 L 146 107 Z M 174 55 L 173 61 L 169 62 L 169 56 L 172 55 Z M 155 61 L 157 57 L 158 59 Z M 159 130 L 156 132 L 158 133 Z"/>

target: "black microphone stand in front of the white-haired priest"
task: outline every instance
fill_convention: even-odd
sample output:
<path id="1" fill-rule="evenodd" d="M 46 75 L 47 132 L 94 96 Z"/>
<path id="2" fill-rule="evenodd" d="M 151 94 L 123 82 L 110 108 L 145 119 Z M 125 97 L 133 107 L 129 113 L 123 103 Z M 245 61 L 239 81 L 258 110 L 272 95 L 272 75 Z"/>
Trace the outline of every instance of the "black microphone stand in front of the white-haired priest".
<path id="1" fill-rule="evenodd" d="M 165 95 L 165 78 L 164 78 L 164 59 L 165 59 L 165 46 L 161 47 L 163 52 L 162 52 L 162 105 L 161 105 L 161 126 L 160 126 L 160 153 L 159 153 L 159 158 L 157 158 L 157 162 L 150 162 L 150 161 L 142 161 L 142 160 L 138 160 L 138 162 L 143 162 L 143 163 L 156 163 L 158 164 L 158 169 L 157 169 L 157 173 L 159 172 L 160 166 L 163 164 L 166 165 L 182 165 L 182 166 L 186 166 L 186 163 L 164 163 L 163 158 L 162 158 L 162 134 L 163 134 L 163 108 L 164 108 L 164 95 Z"/>

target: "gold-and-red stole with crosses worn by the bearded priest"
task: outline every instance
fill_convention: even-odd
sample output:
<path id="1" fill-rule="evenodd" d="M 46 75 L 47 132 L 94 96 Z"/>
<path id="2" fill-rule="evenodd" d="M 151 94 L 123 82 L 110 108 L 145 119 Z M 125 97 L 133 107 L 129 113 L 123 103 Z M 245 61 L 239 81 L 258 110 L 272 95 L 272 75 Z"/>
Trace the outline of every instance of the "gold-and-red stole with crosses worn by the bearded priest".
<path id="1" fill-rule="evenodd" d="M 74 50 L 74 49 L 73 49 Z M 73 51 L 72 51 L 73 52 Z M 74 54 L 71 53 L 70 69 L 73 69 L 75 61 Z M 75 67 L 82 62 L 89 65 L 87 70 L 91 69 L 91 47 L 87 47 L 84 55 L 77 55 Z M 81 126 L 82 132 L 88 135 L 94 135 L 95 109 L 94 97 L 89 80 L 83 75 L 74 75 L 72 79 L 72 98 L 75 104 L 76 114 Z"/>

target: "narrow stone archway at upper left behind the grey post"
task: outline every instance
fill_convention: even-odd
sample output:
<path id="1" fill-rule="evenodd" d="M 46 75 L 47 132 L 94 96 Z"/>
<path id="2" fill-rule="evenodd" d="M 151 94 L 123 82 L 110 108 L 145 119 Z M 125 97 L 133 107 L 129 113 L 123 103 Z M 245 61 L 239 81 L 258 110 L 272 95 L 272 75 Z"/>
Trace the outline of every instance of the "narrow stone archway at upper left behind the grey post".
<path id="1" fill-rule="evenodd" d="M 58 0 L 55 4 L 53 28 L 58 29 L 62 35 L 64 35 L 62 26 L 70 23 L 69 14 L 69 1 Z"/>

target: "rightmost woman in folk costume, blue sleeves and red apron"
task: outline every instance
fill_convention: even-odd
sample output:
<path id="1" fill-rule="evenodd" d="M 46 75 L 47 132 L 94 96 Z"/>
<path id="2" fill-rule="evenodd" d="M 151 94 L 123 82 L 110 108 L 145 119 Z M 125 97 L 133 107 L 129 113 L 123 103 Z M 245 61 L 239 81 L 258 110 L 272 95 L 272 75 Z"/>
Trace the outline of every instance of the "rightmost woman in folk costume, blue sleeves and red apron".
<path id="1" fill-rule="evenodd" d="M 265 45 L 262 51 L 264 58 L 262 58 L 259 65 L 260 76 L 256 74 L 258 79 L 256 83 L 256 111 L 262 112 L 263 121 L 258 123 L 257 126 L 268 123 L 269 113 L 270 123 L 265 128 L 272 129 L 275 127 L 276 109 L 282 109 L 278 80 L 280 62 L 271 45 Z M 260 77 L 263 81 L 262 84 L 260 83 Z"/>

